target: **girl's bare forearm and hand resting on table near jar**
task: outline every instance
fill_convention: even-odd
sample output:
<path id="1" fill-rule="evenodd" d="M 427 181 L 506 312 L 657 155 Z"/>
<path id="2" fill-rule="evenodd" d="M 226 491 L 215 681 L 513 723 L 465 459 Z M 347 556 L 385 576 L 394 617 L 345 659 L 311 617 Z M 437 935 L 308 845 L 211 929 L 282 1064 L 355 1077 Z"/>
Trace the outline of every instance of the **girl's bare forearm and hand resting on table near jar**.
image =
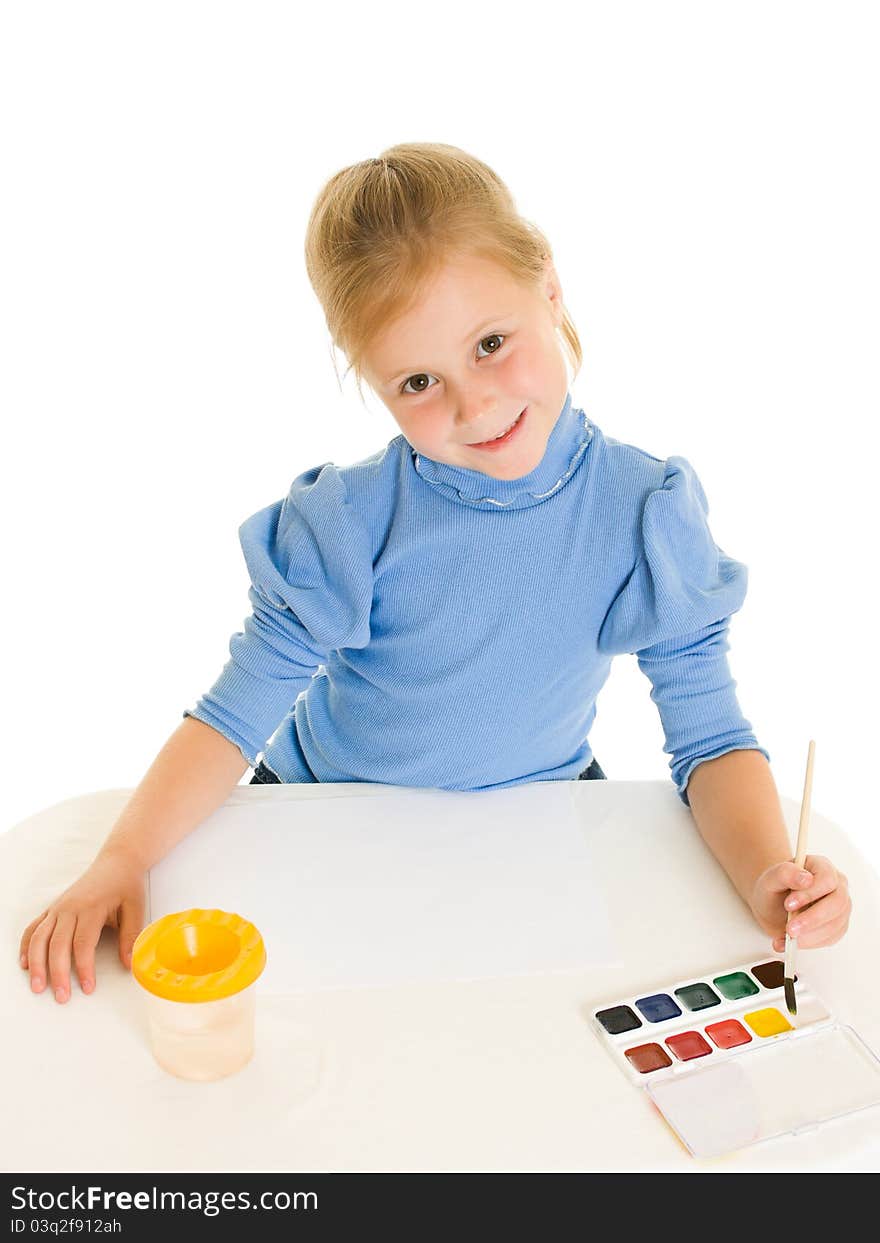
<path id="1" fill-rule="evenodd" d="M 149 869 L 205 819 L 249 768 L 216 730 L 185 717 L 126 804 L 91 866 L 24 931 L 20 961 L 40 993 L 70 997 L 71 955 L 85 993 L 94 988 L 94 947 L 108 925 L 119 932 L 119 958 L 131 966 L 144 924 Z"/>

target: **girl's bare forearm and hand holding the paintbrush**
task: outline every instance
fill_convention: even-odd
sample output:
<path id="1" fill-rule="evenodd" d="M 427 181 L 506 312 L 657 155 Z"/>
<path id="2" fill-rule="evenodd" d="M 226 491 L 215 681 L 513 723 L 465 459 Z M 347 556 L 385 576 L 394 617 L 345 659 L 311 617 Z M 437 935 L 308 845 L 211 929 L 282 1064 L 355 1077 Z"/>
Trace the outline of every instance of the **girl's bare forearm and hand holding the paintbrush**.
<path id="1" fill-rule="evenodd" d="M 803 914 L 789 931 L 800 946 L 840 940 L 853 905 L 846 878 L 822 855 L 807 856 L 807 871 L 794 866 L 779 794 L 759 751 L 728 751 L 697 764 L 687 799 L 700 835 L 777 952 L 794 910 Z"/>

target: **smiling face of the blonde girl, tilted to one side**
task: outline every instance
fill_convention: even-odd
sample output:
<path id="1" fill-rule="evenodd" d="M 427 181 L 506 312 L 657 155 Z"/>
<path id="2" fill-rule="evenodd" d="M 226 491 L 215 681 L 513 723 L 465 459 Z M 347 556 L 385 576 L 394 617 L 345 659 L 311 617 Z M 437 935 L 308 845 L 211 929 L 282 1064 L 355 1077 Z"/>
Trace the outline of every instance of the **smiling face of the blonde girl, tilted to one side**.
<path id="1" fill-rule="evenodd" d="M 562 316 L 549 261 L 532 291 L 497 264 L 456 257 L 377 339 L 363 372 L 416 452 L 520 479 L 539 464 L 566 403 Z"/>

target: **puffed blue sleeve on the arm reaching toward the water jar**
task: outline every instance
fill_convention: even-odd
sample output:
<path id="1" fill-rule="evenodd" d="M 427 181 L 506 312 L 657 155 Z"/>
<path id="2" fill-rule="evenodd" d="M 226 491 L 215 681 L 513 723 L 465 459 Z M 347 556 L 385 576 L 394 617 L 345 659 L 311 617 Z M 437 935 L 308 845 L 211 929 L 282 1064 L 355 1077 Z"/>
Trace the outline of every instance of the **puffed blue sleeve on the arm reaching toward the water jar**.
<path id="1" fill-rule="evenodd" d="M 373 563 L 367 526 L 331 464 L 300 475 L 283 501 L 242 522 L 239 538 L 252 613 L 184 716 L 214 726 L 254 766 L 327 655 L 368 644 Z"/>

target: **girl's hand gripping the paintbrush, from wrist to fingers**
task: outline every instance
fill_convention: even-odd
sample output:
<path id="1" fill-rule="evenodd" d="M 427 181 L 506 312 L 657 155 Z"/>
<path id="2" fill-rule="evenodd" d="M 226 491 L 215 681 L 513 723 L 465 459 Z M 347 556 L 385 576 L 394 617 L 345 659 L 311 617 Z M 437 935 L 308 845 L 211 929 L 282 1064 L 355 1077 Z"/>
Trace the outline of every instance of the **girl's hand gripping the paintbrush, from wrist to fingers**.
<path id="1" fill-rule="evenodd" d="M 754 884 L 752 912 L 773 938 L 777 953 L 786 948 L 789 912 L 788 932 L 800 950 L 834 945 L 849 926 L 853 902 L 844 874 L 824 855 L 807 855 L 804 868 L 778 863 L 762 873 Z"/>

